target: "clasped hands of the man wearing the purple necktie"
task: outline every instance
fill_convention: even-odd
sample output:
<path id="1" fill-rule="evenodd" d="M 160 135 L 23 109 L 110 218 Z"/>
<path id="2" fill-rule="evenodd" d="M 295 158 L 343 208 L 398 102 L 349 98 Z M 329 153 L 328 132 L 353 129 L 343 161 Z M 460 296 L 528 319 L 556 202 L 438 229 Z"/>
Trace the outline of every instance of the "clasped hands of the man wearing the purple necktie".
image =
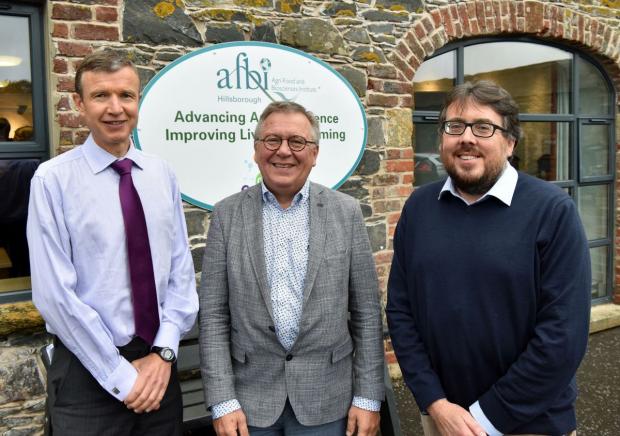
<path id="1" fill-rule="evenodd" d="M 127 408 L 136 413 L 159 409 L 159 403 L 164 398 L 170 381 L 172 364 L 164 362 L 155 353 L 134 360 L 131 364 L 138 370 L 138 378 L 125 398 Z"/>

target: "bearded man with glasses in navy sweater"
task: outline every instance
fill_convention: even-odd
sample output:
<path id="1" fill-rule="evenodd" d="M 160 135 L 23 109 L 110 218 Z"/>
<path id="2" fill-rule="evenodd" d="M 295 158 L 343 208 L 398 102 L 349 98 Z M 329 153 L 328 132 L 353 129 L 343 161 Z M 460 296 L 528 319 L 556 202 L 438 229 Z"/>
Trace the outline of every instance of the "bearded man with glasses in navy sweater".
<path id="1" fill-rule="evenodd" d="M 512 97 L 454 88 L 441 112 L 448 179 L 416 189 L 394 236 L 387 318 L 429 435 L 571 435 L 591 273 L 573 200 L 509 163 Z"/>

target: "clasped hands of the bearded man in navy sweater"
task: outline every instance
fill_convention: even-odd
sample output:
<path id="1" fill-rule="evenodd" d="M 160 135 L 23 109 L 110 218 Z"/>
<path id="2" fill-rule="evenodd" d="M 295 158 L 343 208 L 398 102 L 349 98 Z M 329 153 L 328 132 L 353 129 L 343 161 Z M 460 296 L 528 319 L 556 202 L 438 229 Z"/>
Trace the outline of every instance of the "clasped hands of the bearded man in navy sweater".
<path id="1" fill-rule="evenodd" d="M 442 436 L 486 436 L 486 431 L 471 414 L 458 404 L 442 398 L 428 407 Z"/>

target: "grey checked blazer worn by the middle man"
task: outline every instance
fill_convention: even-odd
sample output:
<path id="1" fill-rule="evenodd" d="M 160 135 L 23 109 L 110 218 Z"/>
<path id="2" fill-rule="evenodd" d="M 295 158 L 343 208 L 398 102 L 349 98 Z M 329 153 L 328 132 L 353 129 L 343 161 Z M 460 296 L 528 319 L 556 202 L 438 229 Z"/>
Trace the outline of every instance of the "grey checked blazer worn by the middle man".
<path id="1" fill-rule="evenodd" d="M 214 209 L 200 285 L 200 354 L 209 407 L 237 398 L 267 427 L 288 397 L 304 425 L 346 416 L 354 395 L 383 400 L 375 265 L 357 202 L 310 184 L 303 312 L 287 353 L 275 334 L 265 267 L 262 193 L 253 186 Z"/>

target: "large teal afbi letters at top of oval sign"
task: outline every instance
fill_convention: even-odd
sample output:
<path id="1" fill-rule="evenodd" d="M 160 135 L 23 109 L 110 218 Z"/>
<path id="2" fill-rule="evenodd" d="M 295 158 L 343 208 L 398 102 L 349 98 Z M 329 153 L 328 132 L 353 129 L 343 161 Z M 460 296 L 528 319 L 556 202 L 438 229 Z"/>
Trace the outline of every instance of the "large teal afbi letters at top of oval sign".
<path id="1" fill-rule="evenodd" d="M 262 58 L 258 69 L 251 70 L 249 58 L 245 52 L 237 55 L 234 68 L 222 68 L 217 71 L 217 87 L 219 89 L 262 89 L 269 87 L 268 74 L 271 69 L 271 61 Z"/>

